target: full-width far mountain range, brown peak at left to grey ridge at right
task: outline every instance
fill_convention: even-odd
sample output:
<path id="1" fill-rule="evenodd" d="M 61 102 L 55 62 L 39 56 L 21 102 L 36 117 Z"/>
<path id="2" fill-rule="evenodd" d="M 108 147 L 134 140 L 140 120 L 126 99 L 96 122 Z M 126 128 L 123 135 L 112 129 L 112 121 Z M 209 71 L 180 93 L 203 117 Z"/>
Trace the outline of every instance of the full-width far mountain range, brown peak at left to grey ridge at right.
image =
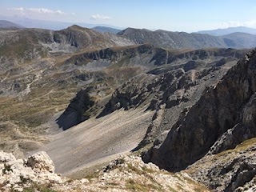
<path id="1" fill-rule="evenodd" d="M 209 34 L 187 34 L 185 32 L 170 32 L 166 30 L 138 30 L 127 28 L 113 33 L 100 33 L 81 26 L 70 26 L 65 30 L 2 30 L 0 42 L 5 42 L 0 48 L 13 58 L 30 58 L 44 55 L 48 52 L 70 53 L 82 49 L 98 49 L 113 46 L 131 46 L 150 44 L 164 49 L 202 49 L 202 48 L 234 48 L 244 49 L 256 46 L 256 35 L 245 33 L 227 34 L 221 37 Z M 15 47 L 13 46 L 13 39 Z M 32 50 L 37 50 L 33 52 Z M 1 51 L 0 51 L 1 53 Z M 26 54 L 34 53 L 34 54 Z M 30 59 L 28 58 L 28 59 Z"/>

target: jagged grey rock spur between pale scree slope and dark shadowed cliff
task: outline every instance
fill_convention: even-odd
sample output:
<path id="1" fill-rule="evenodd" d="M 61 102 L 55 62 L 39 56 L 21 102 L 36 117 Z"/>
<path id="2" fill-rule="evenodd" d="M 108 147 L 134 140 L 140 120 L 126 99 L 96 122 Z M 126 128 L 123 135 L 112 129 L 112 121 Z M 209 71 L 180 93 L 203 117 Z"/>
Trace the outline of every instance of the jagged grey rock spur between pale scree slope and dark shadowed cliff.
<path id="1" fill-rule="evenodd" d="M 203 51 L 180 54 L 178 60 L 188 62 L 164 66 L 151 70 L 151 74 L 136 76 L 114 91 L 110 102 L 106 104 L 98 118 L 120 108 L 129 110 L 138 106 L 148 106 L 148 110 L 156 110 L 156 112 L 141 146 L 153 142 L 162 131 L 174 126 L 182 110 L 188 110 L 198 101 L 206 86 L 217 83 L 230 66 L 234 65 L 234 62 L 226 62 L 228 60 L 225 61 L 225 58 L 210 63 L 199 60 L 196 64 L 194 60 L 189 60 L 196 57 L 208 58 L 211 53 L 216 55 L 216 52 Z M 184 60 L 186 58 L 188 60 Z"/>

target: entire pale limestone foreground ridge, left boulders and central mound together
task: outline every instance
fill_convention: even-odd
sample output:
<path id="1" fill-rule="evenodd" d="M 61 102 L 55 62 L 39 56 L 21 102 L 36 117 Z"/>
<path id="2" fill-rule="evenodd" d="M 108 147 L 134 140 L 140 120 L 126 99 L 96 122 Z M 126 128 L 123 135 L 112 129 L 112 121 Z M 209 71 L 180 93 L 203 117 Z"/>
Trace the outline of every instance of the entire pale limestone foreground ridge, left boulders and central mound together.
<path id="1" fill-rule="evenodd" d="M 44 151 L 23 160 L 0 151 L 1 191 L 209 191 L 186 173 L 170 174 L 135 156 L 118 158 L 87 178 L 54 174 L 53 162 Z"/>

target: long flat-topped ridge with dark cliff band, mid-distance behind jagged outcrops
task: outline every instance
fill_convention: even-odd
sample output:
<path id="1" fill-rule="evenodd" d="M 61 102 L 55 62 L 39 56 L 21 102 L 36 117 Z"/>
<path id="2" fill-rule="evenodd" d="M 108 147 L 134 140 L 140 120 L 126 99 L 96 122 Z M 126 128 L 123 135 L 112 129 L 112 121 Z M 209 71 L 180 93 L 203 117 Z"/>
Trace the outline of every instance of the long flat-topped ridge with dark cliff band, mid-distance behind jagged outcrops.
<path id="1" fill-rule="evenodd" d="M 242 58 L 248 50 L 202 49 L 202 50 L 167 50 L 150 44 L 134 46 L 115 46 L 102 50 L 90 50 L 76 54 L 66 60 L 66 65 L 83 66 L 86 70 L 101 70 L 108 66 L 142 66 L 146 69 L 170 64 L 173 69 L 184 67 L 193 70 L 202 66 L 202 62 L 215 62 L 222 66 L 230 59 Z M 223 60 L 224 59 L 224 60 Z M 180 66 L 182 65 L 182 66 Z"/>

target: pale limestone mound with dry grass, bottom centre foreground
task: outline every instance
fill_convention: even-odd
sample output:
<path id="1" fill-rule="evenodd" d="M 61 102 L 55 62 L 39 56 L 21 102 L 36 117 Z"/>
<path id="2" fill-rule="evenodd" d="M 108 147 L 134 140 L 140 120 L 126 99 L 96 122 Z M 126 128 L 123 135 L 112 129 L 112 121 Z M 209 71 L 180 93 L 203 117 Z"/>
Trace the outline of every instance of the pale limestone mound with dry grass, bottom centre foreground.
<path id="1" fill-rule="evenodd" d="M 186 173 L 171 174 L 136 156 L 123 156 L 86 178 L 54 186 L 60 191 L 210 191 Z"/>

